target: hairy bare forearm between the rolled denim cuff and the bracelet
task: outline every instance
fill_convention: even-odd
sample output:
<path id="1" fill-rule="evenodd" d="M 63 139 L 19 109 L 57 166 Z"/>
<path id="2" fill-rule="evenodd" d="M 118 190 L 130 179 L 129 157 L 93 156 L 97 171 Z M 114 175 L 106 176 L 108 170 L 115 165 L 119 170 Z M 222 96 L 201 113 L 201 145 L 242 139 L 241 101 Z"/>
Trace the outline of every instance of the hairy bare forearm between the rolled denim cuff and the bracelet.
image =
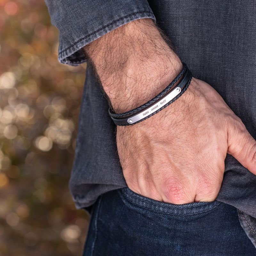
<path id="1" fill-rule="evenodd" d="M 132 21 L 84 47 L 116 112 L 145 103 L 182 68 L 150 19 Z"/>

